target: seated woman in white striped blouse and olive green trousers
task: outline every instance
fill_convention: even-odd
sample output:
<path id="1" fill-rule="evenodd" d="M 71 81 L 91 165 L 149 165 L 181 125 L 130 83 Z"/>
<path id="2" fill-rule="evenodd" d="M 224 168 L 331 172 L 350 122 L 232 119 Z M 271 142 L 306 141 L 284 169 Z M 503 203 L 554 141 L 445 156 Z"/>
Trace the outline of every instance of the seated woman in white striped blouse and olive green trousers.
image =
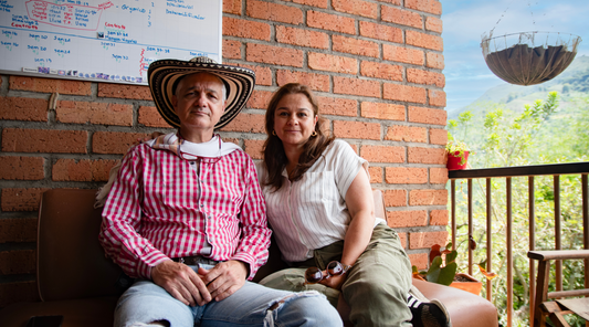
<path id="1" fill-rule="evenodd" d="M 356 326 L 411 326 L 411 264 L 397 233 L 374 215 L 368 162 L 347 143 L 325 135 L 320 125 L 308 87 L 291 83 L 273 95 L 257 172 L 269 222 L 283 260 L 293 268 L 261 283 L 317 289 L 334 305 L 340 291 Z M 328 264 L 339 271 L 326 272 Z M 313 267 L 323 273 L 317 276 Z M 315 273 L 315 281 L 305 281 L 306 272 Z"/>

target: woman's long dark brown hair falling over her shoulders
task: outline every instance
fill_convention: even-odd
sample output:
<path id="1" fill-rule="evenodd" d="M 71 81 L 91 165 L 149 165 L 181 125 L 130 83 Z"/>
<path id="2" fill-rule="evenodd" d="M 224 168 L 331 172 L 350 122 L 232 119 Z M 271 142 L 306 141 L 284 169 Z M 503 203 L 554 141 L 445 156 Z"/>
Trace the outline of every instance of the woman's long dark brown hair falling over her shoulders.
<path id="1" fill-rule="evenodd" d="M 262 186 L 270 186 L 273 188 L 273 191 L 277 191 L 282 187 L 282 171 L 286 167 L 287 158 L 284 152 L 284 147 L 282 140 L 273 135 L 274 131 L 274 115 L 278 102 L 287 94 L 303 94 L 307 97 L 308 102 L 313 106 L 314 116 L 319 115 L 319 106 L 317 99 L 313 95 L 311 89 L 298 83 L 288 83 L 278 88 L 267 105 L 266 110 L 266 134 L 267 139 L 264 143 L 264 166 L 267 170 L 267 179 L 262 181 Z M 317 124 L 315 124 L 316 136 L 309 137 L 307 143 L 303 148 L 303 154 L 298 157 L 298 164 L 295 169 L 292 171 L 290 179 L 292 181 L 299 180 L 303 178 L 303 173 L 307 171 L 315 161 L 322 156 L 323 151 L 332 141 L 334 136 L 326 135 L 322 131 L 323 118 L 319 116 Z"/>

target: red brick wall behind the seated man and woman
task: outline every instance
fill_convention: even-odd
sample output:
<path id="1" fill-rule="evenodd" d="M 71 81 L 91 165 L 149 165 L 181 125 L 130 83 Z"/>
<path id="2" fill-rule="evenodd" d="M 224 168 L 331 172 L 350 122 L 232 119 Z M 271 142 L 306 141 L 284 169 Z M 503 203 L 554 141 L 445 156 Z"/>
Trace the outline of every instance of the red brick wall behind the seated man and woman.
<path id="1" fill-rule="evenodd" d="M 370 161 L 386 219 L 424 267 L 448 224 L 440 1 L 225 0 L 223 11 L 223 61 L 254 70 L 257 85 L 222 136 L 260 159 L 272 92 L 309 85 L 326 127 Z M 3 307 L 36 298 L 40 194 L 102 186 L 134 140 L 166 124 L 145 86 L 15 75 L 1 75 L 0 119 Z"/>

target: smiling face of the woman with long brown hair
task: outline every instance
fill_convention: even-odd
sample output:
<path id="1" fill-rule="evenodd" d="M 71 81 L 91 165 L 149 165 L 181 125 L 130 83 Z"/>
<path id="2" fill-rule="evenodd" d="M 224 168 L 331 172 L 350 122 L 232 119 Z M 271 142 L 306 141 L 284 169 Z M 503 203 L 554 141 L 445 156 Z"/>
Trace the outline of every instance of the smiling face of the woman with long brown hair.
<path id="1" fill-rule="evenodd" d="M 286 94 L 274 112 L 274 130 L 285 148 L 301 147 L 315 130 L 317 119 L 313 105 L 304 94 Z"/>

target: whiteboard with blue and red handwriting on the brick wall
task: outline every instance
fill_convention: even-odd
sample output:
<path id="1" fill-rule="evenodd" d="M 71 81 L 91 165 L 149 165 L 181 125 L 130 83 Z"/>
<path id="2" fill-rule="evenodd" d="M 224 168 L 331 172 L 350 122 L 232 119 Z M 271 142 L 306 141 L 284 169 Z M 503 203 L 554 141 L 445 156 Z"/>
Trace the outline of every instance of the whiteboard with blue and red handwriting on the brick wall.
<path id="1" fill-rule="evenodd" d="M 0 71 L 147 85 L 159 59 L 222 59 L 222 0 L 0 0 Z"/>

